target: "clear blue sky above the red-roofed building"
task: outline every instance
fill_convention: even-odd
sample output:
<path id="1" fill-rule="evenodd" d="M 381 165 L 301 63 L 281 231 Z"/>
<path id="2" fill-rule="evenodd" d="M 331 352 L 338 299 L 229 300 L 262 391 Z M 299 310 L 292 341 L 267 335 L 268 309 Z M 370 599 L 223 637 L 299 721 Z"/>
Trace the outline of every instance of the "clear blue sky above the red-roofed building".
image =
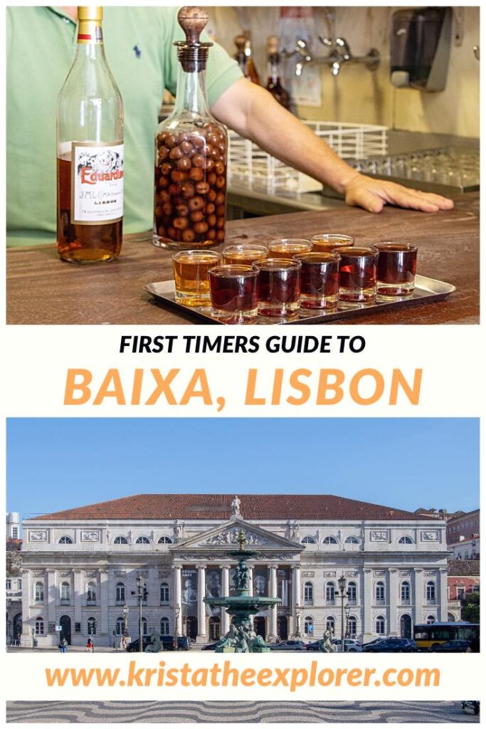
<path id="1" fill-rule="evenodd" d="M 10 418 L 7 510 L 141 493 L 337 494 L 401 509 L 479 505 L 473 418 Z"/>

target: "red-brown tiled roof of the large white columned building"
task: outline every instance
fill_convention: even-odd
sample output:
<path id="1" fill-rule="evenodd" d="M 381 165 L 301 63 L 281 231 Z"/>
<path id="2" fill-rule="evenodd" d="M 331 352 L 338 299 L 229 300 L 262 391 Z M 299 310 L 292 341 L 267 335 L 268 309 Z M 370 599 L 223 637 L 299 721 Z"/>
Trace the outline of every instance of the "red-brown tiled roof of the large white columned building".
<path id="1" fill-rule="evenodd" d="M 58 511 L 37 520 L 103 519 L 220 519 L 231 516 L 233 496 L 227 494 L 136 494 L 109 502 Z M 328 494 L 242 494 L 240 514 L 244 519 L 385 519 L 417 521 L 409 511 L 344 499 Z M 424 517 L 423 517 L 424 518 Z M 429 521 L 429 520 L 427 520 Z"/>

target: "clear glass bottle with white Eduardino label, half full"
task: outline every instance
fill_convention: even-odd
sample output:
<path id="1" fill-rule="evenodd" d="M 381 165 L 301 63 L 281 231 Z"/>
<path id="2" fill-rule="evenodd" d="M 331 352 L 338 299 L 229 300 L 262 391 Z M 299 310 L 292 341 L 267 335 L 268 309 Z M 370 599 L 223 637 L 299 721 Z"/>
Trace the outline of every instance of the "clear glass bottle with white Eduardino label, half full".
<path id="1" fill-rule="evenodd" d="M 113 260 L 122 247 L 123 103 L 103 47 L 101 7 L 78 8 L 77 52 L 60 90 L 58 254 Z"/>

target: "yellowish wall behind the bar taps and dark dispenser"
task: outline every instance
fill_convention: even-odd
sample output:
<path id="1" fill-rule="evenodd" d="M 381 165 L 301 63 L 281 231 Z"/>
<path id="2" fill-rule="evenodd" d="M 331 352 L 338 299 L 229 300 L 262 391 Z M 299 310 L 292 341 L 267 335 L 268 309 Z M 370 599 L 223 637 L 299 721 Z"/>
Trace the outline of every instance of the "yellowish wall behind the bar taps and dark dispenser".
<path id="1" fill-rule="evenodd" d="M 231 54 L 233 38 L 243 24 L 252 31 L 256 66 L 265 76 L 267 36 L 278 27 L 279 8 L 210 8 L 216 39 Z M 479 62 L 473 46 L 479 45 L 479 7 L 464 9 L 464 36 L 460 47 L 452 44 L 447 87 L 442 92 L 422 93 L 396 89 L 389 80 L 390 7 L 334 8 L 334 33 L 348 41 L 353 55 L 364 55 L 376 47 L 382 62 L 377 71 L 364 66 L 345 66 L 337 78 L 321 66 L 322 102 L 320 107 L 301 106 L 299 116 L 307 119 L 339 120 L 384 124 L 390 128 L 418 132 L 479 136 Z M 315 38 L 327 35 L 329 9 L 313 9 Z M 324 53 L 321 44 L 315 50 Z M 305 69 L 303 71 L 305 74 Z"/>

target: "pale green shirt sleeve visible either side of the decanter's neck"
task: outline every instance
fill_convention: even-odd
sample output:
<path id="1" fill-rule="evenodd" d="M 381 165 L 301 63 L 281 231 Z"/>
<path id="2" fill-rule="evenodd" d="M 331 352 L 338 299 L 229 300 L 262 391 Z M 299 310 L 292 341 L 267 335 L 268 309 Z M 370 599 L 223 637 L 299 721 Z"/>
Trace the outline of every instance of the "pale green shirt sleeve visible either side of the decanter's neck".
<path id="1" fill-rule="evenodd" d="M 164 23 L 165 42 L 163 44 L 163 64 L 165 87 L 176 95 L 177 71 L 177 50 L 173 46 L 174 41 L 184 40 L 184 32 L 177 22 L 178 8 L 171 8 L 170 22 Z M 169 17 L 166 16 L 166 21 Z M 208 41 L 207 34 L 201 35 L 201 40 Z M 209 49 L 208 66 L 206 69 L 206 85 L 208 87 L 208 102 L 212 106 L 215 101 L 238 79 L 243 78 L 240 66 L 218 43 L 213 44 Z"/>

